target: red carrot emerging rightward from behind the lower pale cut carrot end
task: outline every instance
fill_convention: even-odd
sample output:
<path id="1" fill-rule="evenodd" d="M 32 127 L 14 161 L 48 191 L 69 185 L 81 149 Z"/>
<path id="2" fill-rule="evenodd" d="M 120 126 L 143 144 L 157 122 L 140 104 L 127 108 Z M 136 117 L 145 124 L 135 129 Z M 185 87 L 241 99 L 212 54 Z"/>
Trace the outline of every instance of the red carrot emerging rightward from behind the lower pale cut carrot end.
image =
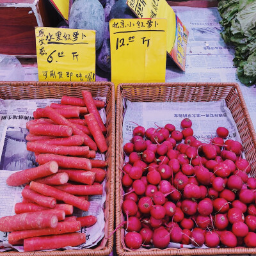
<path id="1" fill-rule="evenodd" d="M 96 177 L 96 174 L 90 171 L 84 172 L 81 170 L 61 169 L 58 172 L 67 173 L 69 180 L 81 182 L 88 185 L 92 185 Z"/>

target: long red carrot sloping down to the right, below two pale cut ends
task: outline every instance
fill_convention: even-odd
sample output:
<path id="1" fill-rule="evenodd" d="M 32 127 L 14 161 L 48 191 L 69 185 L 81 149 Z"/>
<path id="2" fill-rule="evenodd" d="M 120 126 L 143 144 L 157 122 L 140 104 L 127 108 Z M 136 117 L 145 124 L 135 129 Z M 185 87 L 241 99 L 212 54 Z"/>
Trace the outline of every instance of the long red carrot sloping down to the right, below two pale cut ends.
<path id="1" fill-rule="evenodd" d="M 63 185 L 60 185 L 63 186 Z M 45 196 L 52 196 L 56 198 L 57 200 L 62 200 L 66 204 L 74 205 L 75 207 L 83 210 L 88 211 L 90 207 L 90 202 L 83 200 L 77 196 L 70 195 L 69 193 L 66 193 L 65 191 L 61 191 L 60 189 L 53 188 L 49 185 L 41 184 L 35 181 L 31 181 L 29 188 L 33 189 L 34 191 L 45 195 Z"/>

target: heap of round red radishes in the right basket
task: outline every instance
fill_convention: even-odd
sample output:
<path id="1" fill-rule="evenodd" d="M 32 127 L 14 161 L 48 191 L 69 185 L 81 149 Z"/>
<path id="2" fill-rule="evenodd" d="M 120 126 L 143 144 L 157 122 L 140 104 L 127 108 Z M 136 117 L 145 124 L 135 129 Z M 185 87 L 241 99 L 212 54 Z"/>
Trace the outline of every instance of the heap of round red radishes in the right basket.
<path id="1" fill-rule="evenodd" d="M 241 143 L 224 141 L 225 127 L 205 143 L 193 136 L 191 120 L 180 126 L 138 126 L 124 145 L 125 245 L 255 247 L 256 180 Z"/>

